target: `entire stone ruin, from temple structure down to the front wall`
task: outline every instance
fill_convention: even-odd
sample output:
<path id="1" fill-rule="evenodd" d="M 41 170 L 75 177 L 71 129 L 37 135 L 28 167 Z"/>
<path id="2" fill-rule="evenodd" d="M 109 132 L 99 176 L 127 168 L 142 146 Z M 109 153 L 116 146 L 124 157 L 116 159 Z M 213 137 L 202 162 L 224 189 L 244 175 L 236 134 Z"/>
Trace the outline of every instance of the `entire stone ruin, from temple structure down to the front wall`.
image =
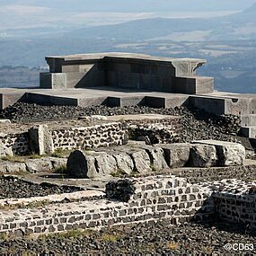
<path id="1" fill-rule="evenodd" d="M 19 101 L 82 107 L 189 105 L 216 115 L 237 115 L 242 120 L 243 135 L 252 140 L 256 137 L 255 95 L 214 91 L 212 77 L 196 75 L 196 69 L 206 63 L 203 59 L 106 53 L 46 60 L 49 72 L 40 74 L 40 88 L 1 89 L 2 109 Z M 17 129 L 8 123 L 9 130 L 0 134 L 1 155 L 35 153 L 42 157 L 24 163 L 1 162 L 2 173 L 12 174 L 15 169 L 31 172 L 30 175 L 42 174 L 66 165 L 67 178 L 81 182 L 82 191 L 31 199 L 0 199 L 0 234 L 45 234 L 160 219 L 179 225 L 210 216 L 255 228 L 253 181 L 224 179 L 197 183 L 172 175 L 177 170 L 225 172 L 230 167 L 243 170 L 249 165 L 256 166 L 252 160 L 248 163 L 240 143 L 181 143 L 179 117 L 173 116 L 88 119 L 94 119 L 93 123 L 76 127 L 37 124 Z M 140 141 L 129 139 L 131 131 L 140 135 Z M 59 150 L 73 152 L 61 160 L 49 156 Z M 138 176 L 134 177 L 135 173 Z M 41 176 L 37 179 L 41 181 Z M 101 182 L 104 186 L 95 190 Z M 71 201 L 56 206 L 63 199 Z M 45 200 L 49 204 L 44 207 L 17 207 Z M 8 206 L 13 209 L 6 212 L 4 208 Z"/>

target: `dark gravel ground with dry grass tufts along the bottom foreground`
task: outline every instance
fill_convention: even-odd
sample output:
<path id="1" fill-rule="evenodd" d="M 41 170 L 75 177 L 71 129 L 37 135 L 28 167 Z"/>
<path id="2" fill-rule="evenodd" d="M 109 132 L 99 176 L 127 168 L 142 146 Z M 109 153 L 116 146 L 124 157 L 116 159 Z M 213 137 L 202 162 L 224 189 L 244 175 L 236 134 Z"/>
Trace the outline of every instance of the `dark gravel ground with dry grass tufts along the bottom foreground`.
<path id="1" fill-rule="evenodd" d="M 226 243 L 252 244 L 254 234 L 227 223 L 167 222 L 116 226 L 105 231 L 52 234 L 39 239 L 15 238 L 0 241 L 1 255 L 238 255 L 225 250 Z M 240 251 L 252 252 L 252 251 Z M 255 252 L 255 251 L 254 251 Z M 245 255 L 250 255 L 249 253 Z M 252 254 L 251 254 L 252 255 Z"/>

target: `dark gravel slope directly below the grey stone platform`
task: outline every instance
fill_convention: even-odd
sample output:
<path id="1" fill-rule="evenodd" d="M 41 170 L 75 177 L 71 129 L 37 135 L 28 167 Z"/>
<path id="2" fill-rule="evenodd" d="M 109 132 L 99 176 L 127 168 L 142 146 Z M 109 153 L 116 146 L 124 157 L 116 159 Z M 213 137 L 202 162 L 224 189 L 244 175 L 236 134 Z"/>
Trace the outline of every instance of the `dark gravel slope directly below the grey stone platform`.
<path id="1" fill-rule="evenodd" d="M 240 119 L 238 117 L 216 117 L 202 110 L 188 109 L 186 107 L 154 109 L 139 106 L 124 108 L 93 106 L 90 108 L 81 108 L 74 106 L 42 106 L 18 102 L 0 111 L 0 118 L 11 119 L 17 123 L 30 123 L 60 119 L 77 119 L 81 116 L 91 115 L 111 116 L 148 113 L 181 116 L 181 140 L 183 142 L 190 142 L 194 139 L 215 138 L 225 141 L 241 142 L 247 149 L 253 149 L 248 138 L 238 136 L 240 129 Z"/>

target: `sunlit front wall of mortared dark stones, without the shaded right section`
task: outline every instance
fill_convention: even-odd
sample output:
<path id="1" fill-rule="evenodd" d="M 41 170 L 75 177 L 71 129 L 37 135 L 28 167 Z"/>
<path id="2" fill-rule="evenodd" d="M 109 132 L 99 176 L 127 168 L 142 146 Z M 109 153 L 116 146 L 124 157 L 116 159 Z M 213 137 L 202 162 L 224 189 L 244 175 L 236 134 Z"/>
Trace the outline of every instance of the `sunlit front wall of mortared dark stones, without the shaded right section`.
<path id="1" fill-rule="evenodd" d="M 170 219 L 172 224 L 196 214 L 208 216 L 207 188 L 174 176 L 111 182 L 108 199 L 93 199 L 40 208 L 0 211 L 0 234 L 44 234 L 74 228 L 101 228 Z"/>

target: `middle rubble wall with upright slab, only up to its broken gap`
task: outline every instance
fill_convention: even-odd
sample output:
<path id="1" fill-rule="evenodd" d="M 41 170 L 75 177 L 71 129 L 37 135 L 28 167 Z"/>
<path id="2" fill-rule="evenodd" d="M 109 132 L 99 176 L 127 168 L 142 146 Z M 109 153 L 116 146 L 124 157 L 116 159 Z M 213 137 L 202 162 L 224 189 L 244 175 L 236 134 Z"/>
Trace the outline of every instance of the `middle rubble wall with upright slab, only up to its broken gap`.
<path id="1" fill-rule="evenodd" d="M 128 131 L 120 122 L 111 122 L 82 128 L 49 130 L 47 125 L 38 125 L 28 131 L 2 133 L 2 155 L 51 154 L 56 149 L 92 148 L 126 144 Z"/>

